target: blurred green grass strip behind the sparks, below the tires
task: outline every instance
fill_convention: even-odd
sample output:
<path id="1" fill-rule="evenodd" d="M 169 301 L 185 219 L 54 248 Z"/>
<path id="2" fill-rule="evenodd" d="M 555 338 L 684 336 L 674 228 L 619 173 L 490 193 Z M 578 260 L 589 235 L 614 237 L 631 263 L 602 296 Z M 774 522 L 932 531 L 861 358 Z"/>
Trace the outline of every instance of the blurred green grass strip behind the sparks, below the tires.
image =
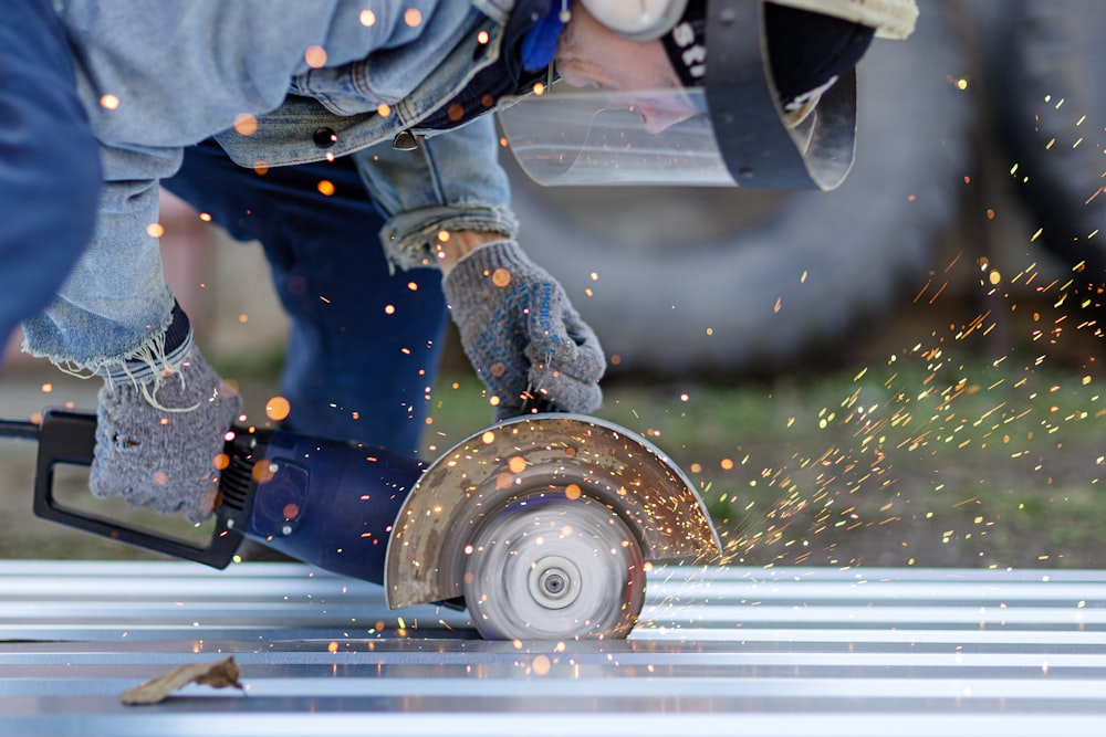
<path id="1" fill-rule="evenodd" d="M 602 418 L 667 452 L 744 565 L 1106 567 L 1103 377 L 905 350 L 771 382 L 605 387 Z M 435 391 L 429 457 L 491 419 Z"/>

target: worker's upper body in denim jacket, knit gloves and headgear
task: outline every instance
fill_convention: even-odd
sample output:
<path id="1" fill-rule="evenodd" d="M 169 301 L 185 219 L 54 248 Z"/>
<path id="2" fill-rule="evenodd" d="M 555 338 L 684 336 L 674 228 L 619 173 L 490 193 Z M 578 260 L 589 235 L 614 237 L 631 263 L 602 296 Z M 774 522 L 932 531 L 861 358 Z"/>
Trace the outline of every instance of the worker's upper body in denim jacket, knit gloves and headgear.
<path id="1" fill-rule="evenodd" d="M 105 380 L 94 493 L 200 519 L 240 398 L 194 346 L 160 273 L 157 186 L 186 147 L 213 136 L 258 173 L 355 156 L 388 219 L 388 261 L 441 271 L 497 415 L 534 397 L 589 412 L 602 400 L 602 348 L 515 241 L 494 137 L 474 122 L 544 92 L 556 56 L 566 82 L 623 95 L 654 136 L 705 123 L 733 183 L 789 183 L 797 171 L 830 187 L 851 162 L 851 137 L 834 145 L 841 122 L 848 127 L 846 80 L 877 31 L 909 33 L 916 9 L 912 0 L 66 0 L 58 13 L 100 141 L 103 191 L 81 265 L 24 322 L 24 347 Z M 766 51 L 765 35 L 778 40 Z M 700 82 L 705 96 L 691 92 Z M 657 87 L 659 97 L 638 94 Z M 749 120 L 754 133 L 785 137 L 750 137 Z"/>

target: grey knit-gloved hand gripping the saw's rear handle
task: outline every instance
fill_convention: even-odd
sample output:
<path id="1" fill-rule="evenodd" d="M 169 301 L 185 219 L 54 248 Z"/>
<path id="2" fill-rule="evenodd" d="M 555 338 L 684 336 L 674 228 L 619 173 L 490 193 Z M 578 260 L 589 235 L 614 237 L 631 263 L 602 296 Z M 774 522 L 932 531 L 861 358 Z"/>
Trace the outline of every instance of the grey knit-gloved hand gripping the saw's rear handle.
<path id="1" fill-rule="evenodd" d="M 218 494 L 215 459 L 241 408 L 238 393 L 195 347 L 178 371 L 156 382 L 105 382 L 88 480 L 92 493 L 204 522 Z"/>

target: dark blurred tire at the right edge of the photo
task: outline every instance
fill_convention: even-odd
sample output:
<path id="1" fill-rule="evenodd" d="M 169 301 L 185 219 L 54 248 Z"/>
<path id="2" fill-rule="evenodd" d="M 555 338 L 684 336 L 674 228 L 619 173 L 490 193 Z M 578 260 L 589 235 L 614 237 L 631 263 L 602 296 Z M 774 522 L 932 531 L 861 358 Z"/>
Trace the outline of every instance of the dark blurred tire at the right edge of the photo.
<path id="1" fill-rule="evenodd" d="M 1106 284 L 1106 233 L 1098 232 L 1106 227 L 1106 88 L 1100 78 L 1106 3 L 999 4 L 1002 12 L 994 13 L 985 35 L 987 59 L 994 118 L 1009 160 L 1019 165 L 1014 191 L 1042 229 L 1037 243 L 1066 267 L 1085 263 L 1076 281 L 1081 298 L 1066 304 L 1082 312 L 1089 297 L 1100 320 L 1106 317 L 1098 291 Z M 1092 233 L 1097 234 L 1088 238 Z"/>

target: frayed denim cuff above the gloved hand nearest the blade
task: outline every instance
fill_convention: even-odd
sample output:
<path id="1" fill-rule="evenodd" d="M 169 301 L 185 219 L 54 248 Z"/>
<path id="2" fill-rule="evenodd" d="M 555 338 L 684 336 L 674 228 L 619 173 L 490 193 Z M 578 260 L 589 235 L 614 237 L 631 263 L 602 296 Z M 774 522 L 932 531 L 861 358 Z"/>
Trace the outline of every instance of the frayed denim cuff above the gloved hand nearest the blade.
<path id="1" fill-rule="evenodd" d="M 437 266 L 438 234 L 442 231 L 459 233 L 501 233 L 513 239 L 518 235 L 519 221 L 508 207 L 434 207 L 399 214 L 380 229 L 380 242 L 388 264 L 401 270 Z"/>

